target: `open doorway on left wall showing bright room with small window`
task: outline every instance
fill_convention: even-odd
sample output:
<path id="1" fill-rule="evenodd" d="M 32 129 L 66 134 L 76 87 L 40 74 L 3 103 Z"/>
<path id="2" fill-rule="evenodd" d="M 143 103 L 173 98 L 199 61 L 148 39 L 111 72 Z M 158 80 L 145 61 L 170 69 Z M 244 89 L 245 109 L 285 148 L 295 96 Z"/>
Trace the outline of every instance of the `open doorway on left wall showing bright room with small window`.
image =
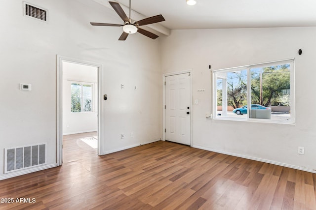
<path id="1" fill-rule="evenodd" d="M 57 57 L 57 165 L 62 165 L 64 140 L 67 145 L 74 141 L 81 148 L 103 154 L 101 65 Z"/>

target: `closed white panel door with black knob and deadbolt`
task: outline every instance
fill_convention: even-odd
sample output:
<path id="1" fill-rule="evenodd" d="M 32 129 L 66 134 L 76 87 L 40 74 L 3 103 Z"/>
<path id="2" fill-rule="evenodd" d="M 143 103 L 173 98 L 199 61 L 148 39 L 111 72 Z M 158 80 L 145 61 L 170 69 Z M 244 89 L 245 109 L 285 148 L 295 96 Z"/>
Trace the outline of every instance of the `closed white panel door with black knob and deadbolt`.
<path id="1" fill-rule="evenodd" d="M 165 77 L 166 140 L 190 145 L 190 73 Z"/>

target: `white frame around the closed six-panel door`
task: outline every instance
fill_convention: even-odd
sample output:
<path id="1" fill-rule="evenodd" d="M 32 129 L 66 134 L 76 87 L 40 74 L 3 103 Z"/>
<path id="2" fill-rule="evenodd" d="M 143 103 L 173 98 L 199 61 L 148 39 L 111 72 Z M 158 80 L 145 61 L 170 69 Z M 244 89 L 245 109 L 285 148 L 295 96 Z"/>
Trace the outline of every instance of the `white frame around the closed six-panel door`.
<path id="1" fill-rule="evenodd" d="M 190 147 L 193 147 L 193 69 L 165 73 L 162 75 L 162 141 L 166 140 L 166 133 L 164 132 L 166 127 L 166 110 L 164 108 L 166 104 L 166 77 L 186 73 L 190 73 Z"/>

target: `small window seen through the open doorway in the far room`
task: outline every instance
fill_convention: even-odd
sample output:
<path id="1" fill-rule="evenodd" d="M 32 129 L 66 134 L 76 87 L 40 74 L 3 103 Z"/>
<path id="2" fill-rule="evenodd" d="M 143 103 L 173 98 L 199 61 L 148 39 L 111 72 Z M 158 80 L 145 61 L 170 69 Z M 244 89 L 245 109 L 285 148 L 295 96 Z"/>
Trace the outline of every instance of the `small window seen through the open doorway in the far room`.
<path id="1" fill-rule="evenodd" d="M 71 84 L 71 112 L 92 112 L 91 84 Z"/>

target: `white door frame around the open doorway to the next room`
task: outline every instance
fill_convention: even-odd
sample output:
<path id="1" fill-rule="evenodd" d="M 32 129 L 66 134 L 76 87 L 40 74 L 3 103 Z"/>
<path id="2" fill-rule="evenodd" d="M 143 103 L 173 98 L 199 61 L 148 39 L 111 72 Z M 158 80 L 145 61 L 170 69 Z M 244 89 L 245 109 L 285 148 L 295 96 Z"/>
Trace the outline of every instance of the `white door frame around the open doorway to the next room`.
<path id="1" fill-rule="evenodd" d="M 98 81 L 98 149 L 97 154 L 103 155 L 102 139 L 102 65 L 90 61 L 78 60 L 64 56 L 56 55 L 57 57 L 57 166 L 63 163 L 63 67 L 62 62 L 72 62 L 82 65 L 89 65 L 97 67 L 97 81 Z"/>

